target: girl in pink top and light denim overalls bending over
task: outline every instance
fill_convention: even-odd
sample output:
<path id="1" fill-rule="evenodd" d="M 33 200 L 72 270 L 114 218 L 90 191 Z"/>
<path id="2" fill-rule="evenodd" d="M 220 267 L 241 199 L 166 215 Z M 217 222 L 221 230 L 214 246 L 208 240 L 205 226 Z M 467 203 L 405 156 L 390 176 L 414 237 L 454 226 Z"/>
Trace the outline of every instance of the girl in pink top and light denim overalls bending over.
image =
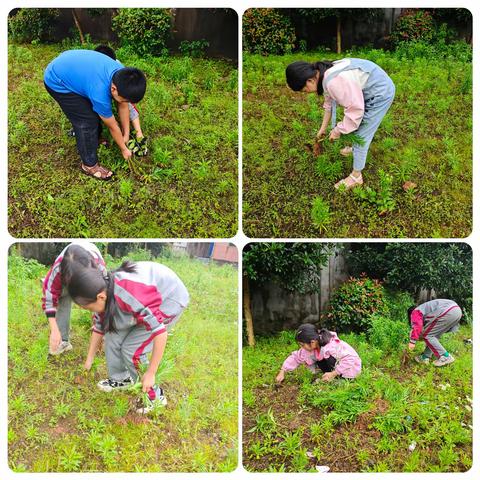
<path id="1" fill-rule="evenodd" d="M 334 62 L 293 62 L 286 69 L 288 86 L 294 91 L 324 96 L 325 115 L 317 138 L 326 135 L 331 122 L 330 141 L 355 132 L 362 145 L 354 143 L 341 154 L 353 154 L 352 173 L 335 184 L 353 188 L 363 184 L 362 170 L 368 148 L 383 117 L 395 97 L 392 79 L 375 63 L 361 58 L 343 58 Z M 344 118 L 336 123 L 336 105 L 344 108 Z"/>

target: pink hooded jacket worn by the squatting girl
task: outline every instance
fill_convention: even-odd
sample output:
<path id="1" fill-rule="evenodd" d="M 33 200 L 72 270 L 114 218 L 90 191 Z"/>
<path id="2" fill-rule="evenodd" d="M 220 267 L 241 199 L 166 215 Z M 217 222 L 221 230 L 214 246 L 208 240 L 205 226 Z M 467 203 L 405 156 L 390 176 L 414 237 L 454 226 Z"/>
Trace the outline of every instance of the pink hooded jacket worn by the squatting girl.
<path id="1" fill-rule="evenodd" d="M 355 378 L 362 370 L 362 360 L 358 353 L 335 332 L 330 332 L 332 338 L 320 350 L 309 352 L 304 348 L 292 352 L 283 362 L 282 369 L 289 372 L 299 365 L 306 365 L 310 370 L 315 370 L 317 361 L 333 357 L 336 360 L 335 371 L 344 378 Z"/>

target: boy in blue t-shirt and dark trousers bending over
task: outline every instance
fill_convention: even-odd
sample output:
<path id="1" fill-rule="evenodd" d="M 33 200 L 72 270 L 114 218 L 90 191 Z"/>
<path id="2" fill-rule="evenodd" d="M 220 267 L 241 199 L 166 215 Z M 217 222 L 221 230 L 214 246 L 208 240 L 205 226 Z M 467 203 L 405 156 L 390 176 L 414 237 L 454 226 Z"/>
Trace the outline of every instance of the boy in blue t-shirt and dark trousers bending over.
<path id="1" fill-rule="evenodd" d="M 100 120 L 128 160 L 132 155 L 126 146 L 130 128 L 128 105 L 145 95 L 145 75 L 99 52 L 67 50 L 47 66 L 44 82 L 73 125 L 82 172 L 109 180 L 113 173 L 99 165 L 97 159 Z M 118 105 L 120 125 L 112 112 L 112 99 Z"/>

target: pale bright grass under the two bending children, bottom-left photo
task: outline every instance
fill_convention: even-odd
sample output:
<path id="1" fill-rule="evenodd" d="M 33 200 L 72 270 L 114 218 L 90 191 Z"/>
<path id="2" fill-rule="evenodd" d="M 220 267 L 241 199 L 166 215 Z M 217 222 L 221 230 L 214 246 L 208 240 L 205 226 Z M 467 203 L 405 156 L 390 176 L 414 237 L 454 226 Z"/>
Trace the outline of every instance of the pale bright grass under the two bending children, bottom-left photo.
<path id="1" fill-rule="evenodd" d="M 130 257 L 131 258 L 131 257 Z M 185 282 L 191 303 L 169 337 L 157 417 L 132 393 L 107 394 L 103 354 L 82 365 L 90 314 L 73 311 L 73 350 L 49 358 L 39 279 L 47 269 L 9 258 L 9 465 L 15 471 L 231 471 L 237 465 L 237 272 L 186 258 L 159 259 Z M 108 262 L 107 262 L 108 263 Z"/>

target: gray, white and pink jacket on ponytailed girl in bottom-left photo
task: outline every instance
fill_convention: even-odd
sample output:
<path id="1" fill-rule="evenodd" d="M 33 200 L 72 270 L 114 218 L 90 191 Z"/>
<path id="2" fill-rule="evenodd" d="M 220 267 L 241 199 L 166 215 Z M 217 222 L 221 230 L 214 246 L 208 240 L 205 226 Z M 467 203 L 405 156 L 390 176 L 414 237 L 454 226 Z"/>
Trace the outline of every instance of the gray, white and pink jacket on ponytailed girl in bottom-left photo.
<path id="1" fill-rule="evenodd" d="M 170 268 L 155 262 L 136 262 L 137 272 L 116 272 L 115 329 L 143 326 L 152 335 L 166 330 L 190 300 L 188 291 Z M 93 331 L 103 334 L 103 315 L 94 318 Z"/>

